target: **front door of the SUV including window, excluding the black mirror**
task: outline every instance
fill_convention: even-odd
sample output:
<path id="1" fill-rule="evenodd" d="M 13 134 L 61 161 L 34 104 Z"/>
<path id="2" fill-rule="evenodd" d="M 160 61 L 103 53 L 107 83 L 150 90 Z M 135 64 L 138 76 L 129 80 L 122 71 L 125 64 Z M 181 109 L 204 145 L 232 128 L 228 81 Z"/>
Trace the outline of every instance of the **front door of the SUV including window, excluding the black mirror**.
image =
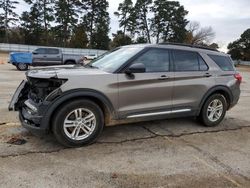
<path id="1" fill-rule="evenodd" d="M 118 74 L 121 118 L 146 117 L 171 113 L 174 73 L 167 49 L 150 48 L 130 65 L 143 63 L 145 73 Z"/>

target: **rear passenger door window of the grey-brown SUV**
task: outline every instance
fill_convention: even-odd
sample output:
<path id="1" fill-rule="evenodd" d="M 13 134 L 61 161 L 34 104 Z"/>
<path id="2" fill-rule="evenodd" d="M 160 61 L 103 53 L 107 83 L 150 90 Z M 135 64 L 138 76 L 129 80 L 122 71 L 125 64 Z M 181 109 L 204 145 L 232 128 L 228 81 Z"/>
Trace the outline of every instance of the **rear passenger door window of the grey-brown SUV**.
<path id="1" fill-rule="evenodd" d="M 202 57 L 196 52 L 175 50 L 175 71 L 206 71 L 208 66 Z"/>

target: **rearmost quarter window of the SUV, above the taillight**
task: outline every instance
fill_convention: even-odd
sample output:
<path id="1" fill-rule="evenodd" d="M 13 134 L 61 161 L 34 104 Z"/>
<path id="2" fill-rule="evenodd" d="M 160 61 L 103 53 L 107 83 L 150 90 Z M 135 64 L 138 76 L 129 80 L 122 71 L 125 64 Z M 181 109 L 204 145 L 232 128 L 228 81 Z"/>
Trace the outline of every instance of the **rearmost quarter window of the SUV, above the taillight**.
<path id="1" fill-rule="evenodd" d="M 208 55 L 224 71 L 234 71 L 231 59 L 227 56 Z"/>

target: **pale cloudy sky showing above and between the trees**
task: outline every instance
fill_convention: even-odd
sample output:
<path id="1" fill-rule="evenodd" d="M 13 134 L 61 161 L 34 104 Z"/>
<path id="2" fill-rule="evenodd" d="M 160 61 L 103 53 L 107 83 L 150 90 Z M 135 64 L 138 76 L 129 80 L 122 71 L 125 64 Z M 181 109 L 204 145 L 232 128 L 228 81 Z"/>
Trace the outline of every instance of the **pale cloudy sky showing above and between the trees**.
<path id="1" fill-rule="evenodd" d="M 27 10 L 23 0 L 17 12 Z M 134 3 L 136 0 L 132 0 Z M 117 11 L 119 3 L 123 0 L 108 0 L 111 17 L 111 32 L 119 29 L 118 18 L 113 12 Z M 180 4 L 189 12 L 187 19 L 197 21 L 202 27 L 211 26 L 216 33 L 213 42 L 219 44 L 222 51 L 227 51 L 227 44 L 240 37 L 250 28 L 250 0 L 179 0 Z"/>

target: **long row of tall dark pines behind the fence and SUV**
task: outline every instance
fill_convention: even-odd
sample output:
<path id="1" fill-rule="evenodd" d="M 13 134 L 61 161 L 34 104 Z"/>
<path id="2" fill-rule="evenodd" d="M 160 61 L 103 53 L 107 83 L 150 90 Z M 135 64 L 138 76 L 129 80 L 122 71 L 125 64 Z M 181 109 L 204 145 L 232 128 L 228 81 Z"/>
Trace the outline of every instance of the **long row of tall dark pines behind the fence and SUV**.
<path id="1" fill-rule="evenodd" d="M 0 0 L 0 42 L 74 48 L 110 49 L 132 43 L 178 42 L 218 48 L 215 33 L 187 20 L 178 1 L 124 0 L 113 14 L 120 29 L 110 39 L 107 0 Z"/>

